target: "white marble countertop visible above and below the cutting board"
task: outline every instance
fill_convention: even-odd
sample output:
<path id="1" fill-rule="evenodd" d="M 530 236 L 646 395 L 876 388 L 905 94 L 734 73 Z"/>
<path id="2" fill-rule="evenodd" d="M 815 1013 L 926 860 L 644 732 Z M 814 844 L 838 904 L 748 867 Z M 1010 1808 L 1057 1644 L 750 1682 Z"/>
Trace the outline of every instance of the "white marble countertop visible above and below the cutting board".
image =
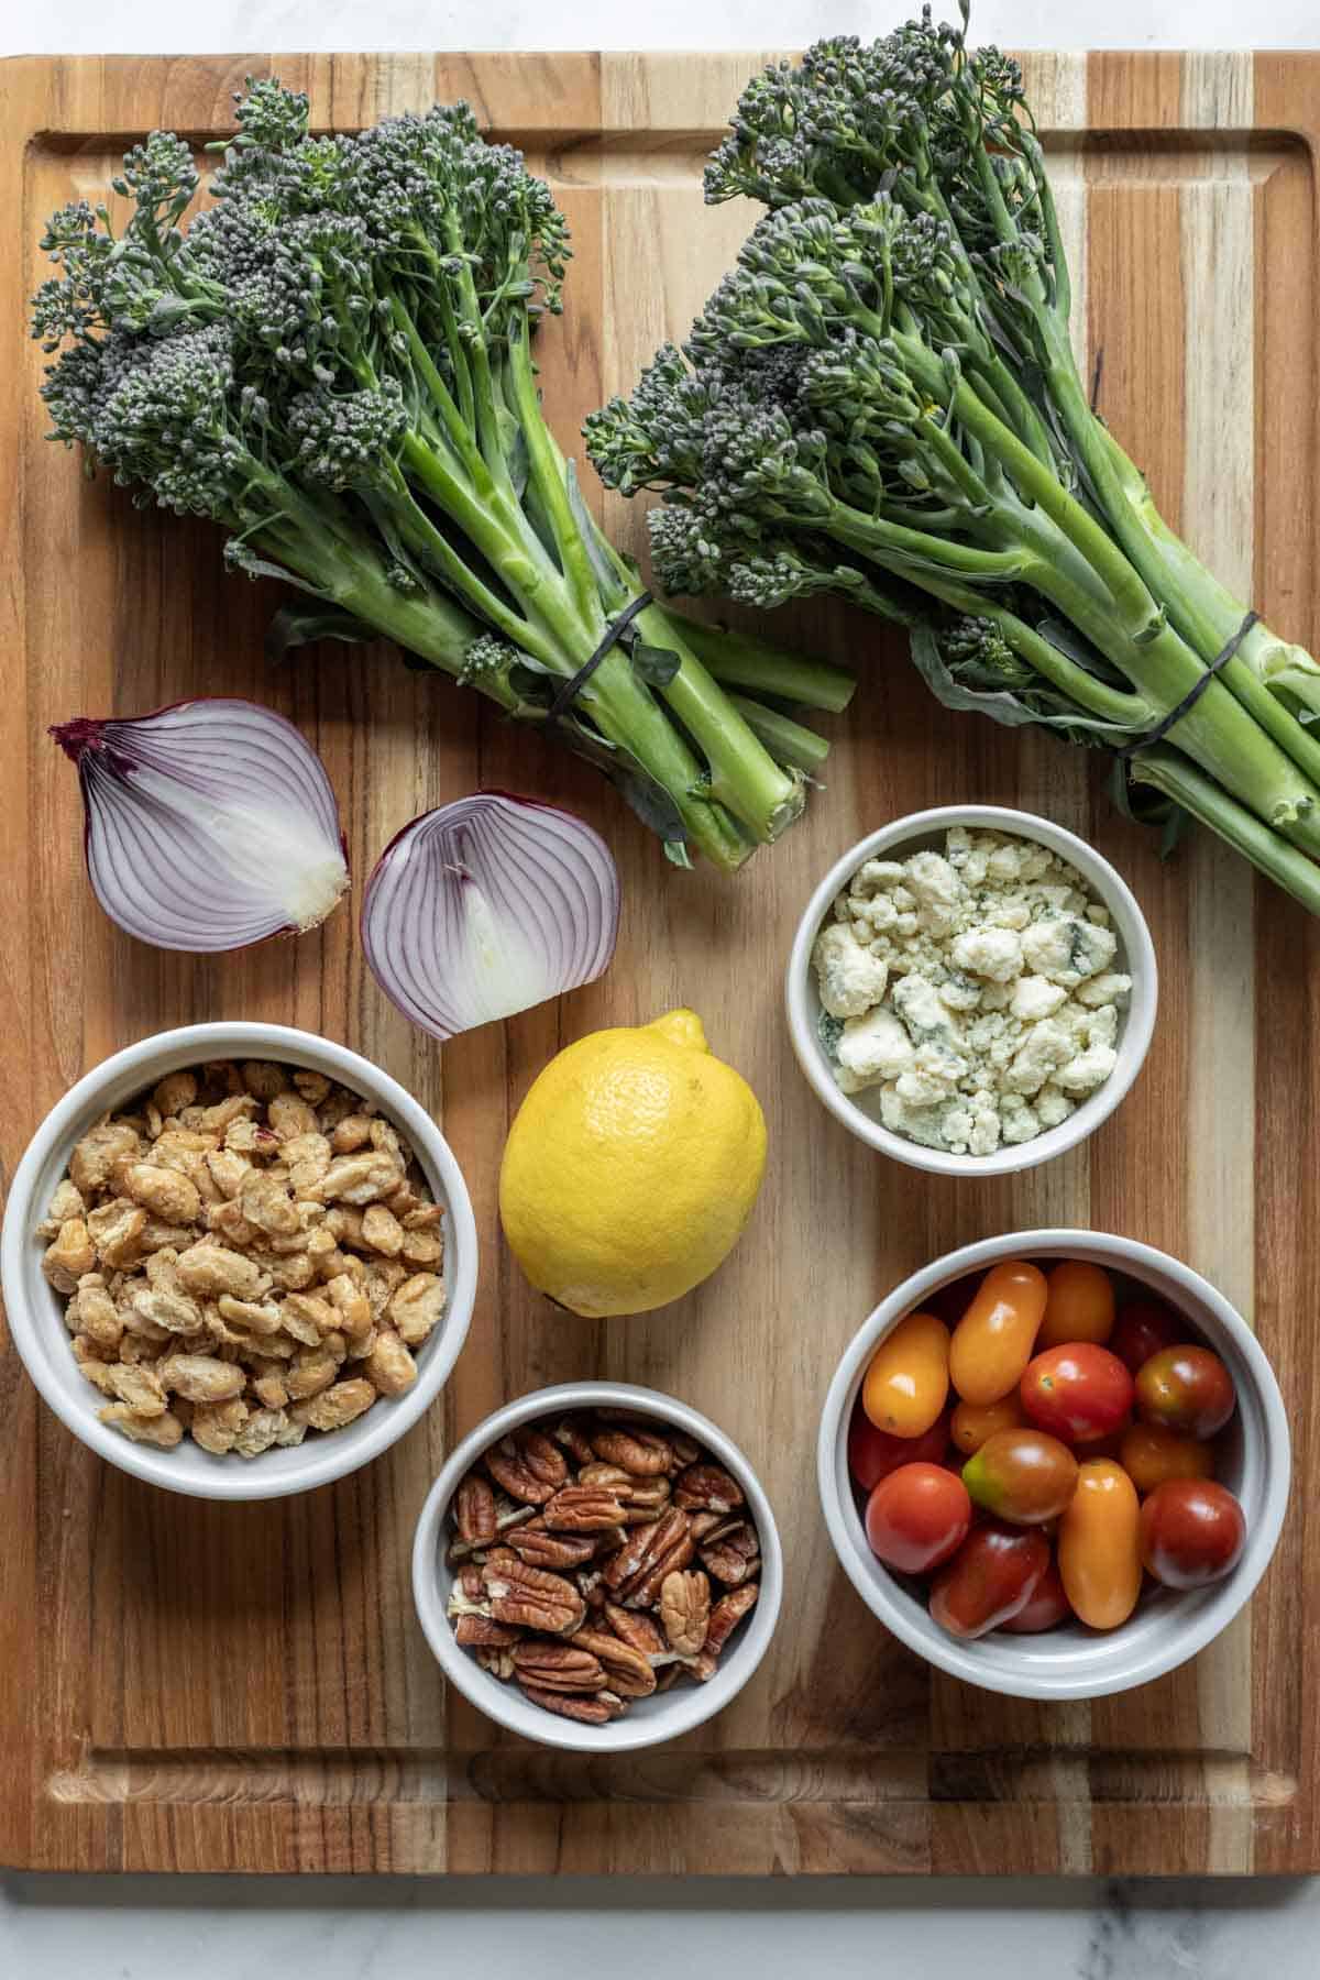
<path id="1" fill-rule="evenodd" d="M 0 55 L 340 48 L 792 48 L 879 34 L 916 0 L 44 0 Z M 950 0 L 952 12 L 952 0 Z M 1017 48 L 1316 48 L 1316 0 L 978 0 Z M 14 1683 L 18 1673 L 6 1673 Z M 716 1964 L 718 1962 L 718 1964 Z M 1320 1974 L 1320 1879 L 0 1877 L 4 1980 L 1271 1980 Z"/>

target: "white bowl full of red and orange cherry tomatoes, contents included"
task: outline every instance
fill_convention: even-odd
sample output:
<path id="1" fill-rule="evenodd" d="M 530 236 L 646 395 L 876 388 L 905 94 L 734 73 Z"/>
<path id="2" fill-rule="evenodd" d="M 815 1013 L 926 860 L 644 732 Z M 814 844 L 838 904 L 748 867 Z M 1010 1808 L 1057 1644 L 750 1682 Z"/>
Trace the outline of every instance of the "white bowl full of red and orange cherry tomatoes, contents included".
<path id="1" fill-rule="evenodd" d="M 1265 1574 L 1288 1422 L 1243 1317 L 1102 1232 L 966 1245 L 875 1309 L 825 1400 L 835 1552 L 930 1663 L 1025 1699 L 1185 1663 Z"/>

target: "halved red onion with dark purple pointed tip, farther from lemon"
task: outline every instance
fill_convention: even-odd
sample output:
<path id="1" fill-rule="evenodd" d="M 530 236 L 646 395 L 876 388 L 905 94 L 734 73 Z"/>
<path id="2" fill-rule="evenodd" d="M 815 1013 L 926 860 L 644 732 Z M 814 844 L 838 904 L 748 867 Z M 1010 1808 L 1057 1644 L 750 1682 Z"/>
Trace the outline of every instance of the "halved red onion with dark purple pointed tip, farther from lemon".
<path id="1" fill-rule="evenodd" d="M 87 873 L 121 929 L 196 954 L 303 935 L 348 885 L 325 764 L 255 701 L 51 729 L 77 764 Z"/>

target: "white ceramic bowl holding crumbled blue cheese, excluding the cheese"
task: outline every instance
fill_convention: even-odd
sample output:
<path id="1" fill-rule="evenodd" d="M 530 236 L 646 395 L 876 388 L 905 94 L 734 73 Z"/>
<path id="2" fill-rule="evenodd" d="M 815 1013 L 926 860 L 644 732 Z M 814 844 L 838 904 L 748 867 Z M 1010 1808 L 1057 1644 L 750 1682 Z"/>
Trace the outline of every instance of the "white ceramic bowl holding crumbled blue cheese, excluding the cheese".
<path id="1" fill-rule="evenodd" d="M 1114 968 L 1132 978 L 1128 1008 L 1118 1022 L 1118 1063 L 1102 1087 L 1069 1115 L 1061 1127 L 1045 1129 L 1035 1140 L 995 1148 L 993 1154 L 946 1154 L 942 1148 L 924 1148 L 904 1135 L 895 1135 L 883 1127 L 879 1117 L 879 1087 L 863 1093 L 843 1093 L 829 1065 L 829 1055 L 819 1040 L 821 1000 L 811 968 L 811 948 L 821 925 L 829 919 L 833 903 L 843 893 L 863 859 L 902 859 L 910 853 L 934 847 L 944 851 L 944 834 L 950 826 L 968 826 L 980 832 L 1003 832 L 1019 840 L 1039 840 L 1061 859 L 1067 859 L 1094 895 L 1110 911 L 1118 954 Z M 869 838 L 859 840 L 841 859 L 833 863 L 807 903 L 807 911 L 798 923 L 794 948 L 788 958 L 784 980 L 784 1002 L 788 1008 L 788 1028 L 794 1040 L 798 1063 L 815 1087 L 817 1097 L 831 1115 L 843 1121 L 849 1133 L 857 1135 L 881 1154 L 893 1154 L 896 1162 L 912 1168 L 926 1168 L 940 1176 L 1005 1176 L 1037 1162 L 1049 1162 L 1065 1148 L 1075 1148 L 1094 1129 L 1112 1115 L 1120 1099 L 1142 1069 L 1156 1026 L 1158 970 L 1150 929 L 1136 905 L 1136 897 L 1126 881 L 1114 871 L 1108 859 L 1092 851 L 1077 834 L 1065 832 L 1049 818 L 1035 818 L 1031 812 L 1013 812 L 999 804 L 946 804 L 932 812 L 910 812 L 889 826 L 881 826 Z"/>

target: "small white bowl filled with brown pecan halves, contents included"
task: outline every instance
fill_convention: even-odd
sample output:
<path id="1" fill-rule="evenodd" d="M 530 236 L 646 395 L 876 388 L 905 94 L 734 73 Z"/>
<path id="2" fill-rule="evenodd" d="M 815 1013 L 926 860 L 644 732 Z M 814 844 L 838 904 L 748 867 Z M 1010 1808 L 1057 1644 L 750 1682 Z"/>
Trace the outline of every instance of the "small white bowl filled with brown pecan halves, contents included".
<path id="1" fill-rule="evenodd" d="M 742 1691 L 784 1590 L 742 1451 L 649 1388 L 572 1382 L 497 1410 L 435 1479 L 412 1554 L 445 1677 L 574 1752 L 691 1732 Z"/>

